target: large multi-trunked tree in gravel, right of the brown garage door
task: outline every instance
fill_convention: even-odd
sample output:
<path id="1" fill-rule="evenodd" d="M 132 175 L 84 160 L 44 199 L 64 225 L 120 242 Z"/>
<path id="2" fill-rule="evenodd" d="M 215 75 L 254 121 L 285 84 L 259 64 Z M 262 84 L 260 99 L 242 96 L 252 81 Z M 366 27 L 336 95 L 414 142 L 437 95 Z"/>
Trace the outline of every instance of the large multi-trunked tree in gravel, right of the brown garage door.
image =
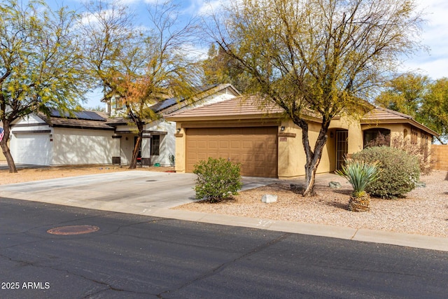
<path id="1" fill-rule="evenodd" d="M 304 196 L 335 116 L 358 113 L 370 88 L 418 46 L 413 0 L 231 1 L 208 25 L 214 41 L 252 78 L 253 92 L 281 106 L 302 129 Z M 321 118 L 314 144 L 307 115 Z"/>

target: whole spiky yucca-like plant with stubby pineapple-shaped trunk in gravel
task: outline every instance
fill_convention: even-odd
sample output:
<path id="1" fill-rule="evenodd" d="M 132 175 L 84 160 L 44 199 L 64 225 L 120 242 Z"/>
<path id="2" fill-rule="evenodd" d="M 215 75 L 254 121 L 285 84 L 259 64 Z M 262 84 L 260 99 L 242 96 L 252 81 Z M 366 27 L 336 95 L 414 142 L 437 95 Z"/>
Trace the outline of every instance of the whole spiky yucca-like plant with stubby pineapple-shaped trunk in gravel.
<path id="1" fill-rule="evenodd" d="M 368 163 L 358 160 L 346 160 L 342 170 L 337 170 L 339 176 L 346 178 L 353 187 L 349 201 L 350 211 L 368 211 L 370 209 L 370 196 L 365 188 L 379 177 L 380 169 L 377 163 Z"/>

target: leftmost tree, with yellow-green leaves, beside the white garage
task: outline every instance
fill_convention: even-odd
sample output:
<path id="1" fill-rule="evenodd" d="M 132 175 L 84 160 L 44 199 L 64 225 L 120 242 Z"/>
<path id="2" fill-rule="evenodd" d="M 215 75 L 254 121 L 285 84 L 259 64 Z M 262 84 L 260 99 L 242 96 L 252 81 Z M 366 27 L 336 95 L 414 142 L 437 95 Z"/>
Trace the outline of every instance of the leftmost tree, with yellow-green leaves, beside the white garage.
<path id="1" fill-rule="evenodd" d="M 0 146 L 10 172 L 17 172 L 7 144 L 11 123 L 38 111 L 76 109 L 87 90 L 75 20 L 74 13 L 51 11 L 42 1 L 0 4 Z"/>

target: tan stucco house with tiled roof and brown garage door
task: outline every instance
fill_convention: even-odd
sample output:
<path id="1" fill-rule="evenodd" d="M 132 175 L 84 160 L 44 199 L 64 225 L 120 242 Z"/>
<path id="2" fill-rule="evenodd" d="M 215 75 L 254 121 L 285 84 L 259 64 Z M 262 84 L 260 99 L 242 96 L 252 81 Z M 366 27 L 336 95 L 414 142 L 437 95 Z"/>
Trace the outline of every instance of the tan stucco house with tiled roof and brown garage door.
<path id="1" fill-rule="evenodd" d="M 199 160 L 226 158 L 241 163 L 241 175 L 293 178 L 304 175 L 302 132 L 275 104 L 259 109 L 257 96 L 235 97 L 165 118 L 176 123 L 176 172 L 193 172 Z M 314 144 L 321 119 L 307 117 Z M 437 133 L 402 113 L 373 107 L 360 120 L 334 118 L 318 173 L 339 169 L 378 134 L 402 137 L 424 151 Z"/>

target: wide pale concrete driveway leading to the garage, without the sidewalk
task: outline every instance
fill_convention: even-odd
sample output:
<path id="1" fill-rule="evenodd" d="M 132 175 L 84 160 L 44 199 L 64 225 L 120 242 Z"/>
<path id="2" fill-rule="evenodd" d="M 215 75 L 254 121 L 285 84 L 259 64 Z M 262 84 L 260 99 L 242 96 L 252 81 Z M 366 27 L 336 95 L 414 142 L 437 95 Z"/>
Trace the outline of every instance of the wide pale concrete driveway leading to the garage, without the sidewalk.
<path id="1" fill-rule="evenodd" d="M 90 209 L 145 214 L 195 201 L 195 174 L 114 172 L 0 186 L 0 196 Z M 243 190 L 278 179 L 243 178 Z"/>

